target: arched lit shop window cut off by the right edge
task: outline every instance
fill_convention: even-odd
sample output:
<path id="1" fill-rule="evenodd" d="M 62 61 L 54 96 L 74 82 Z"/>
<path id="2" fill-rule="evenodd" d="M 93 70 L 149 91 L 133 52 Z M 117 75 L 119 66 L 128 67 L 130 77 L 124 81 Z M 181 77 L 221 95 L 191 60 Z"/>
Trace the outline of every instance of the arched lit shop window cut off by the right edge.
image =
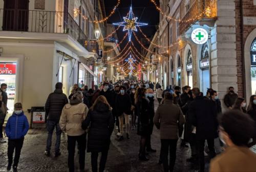
<path id="1" fill-rule="evenodd" d="M 251 93 L 256 93 L 256 37 L 252 41 L 250 48 L 251 55 Z"/>

